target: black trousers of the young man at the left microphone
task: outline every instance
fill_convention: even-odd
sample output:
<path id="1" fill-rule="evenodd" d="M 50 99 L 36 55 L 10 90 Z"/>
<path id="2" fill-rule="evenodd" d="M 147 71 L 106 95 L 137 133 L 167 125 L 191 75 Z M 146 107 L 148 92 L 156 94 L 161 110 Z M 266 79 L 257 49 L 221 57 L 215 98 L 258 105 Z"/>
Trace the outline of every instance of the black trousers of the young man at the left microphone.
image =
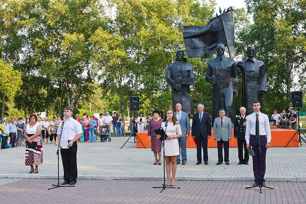
<path id="1" fill-rule="evenodd" d="M 77 182 L 77 142 L 74 142 L 68 149 L 61 148 L 61 156 L 64 168 L 64 180 L 74 180 Z"/>

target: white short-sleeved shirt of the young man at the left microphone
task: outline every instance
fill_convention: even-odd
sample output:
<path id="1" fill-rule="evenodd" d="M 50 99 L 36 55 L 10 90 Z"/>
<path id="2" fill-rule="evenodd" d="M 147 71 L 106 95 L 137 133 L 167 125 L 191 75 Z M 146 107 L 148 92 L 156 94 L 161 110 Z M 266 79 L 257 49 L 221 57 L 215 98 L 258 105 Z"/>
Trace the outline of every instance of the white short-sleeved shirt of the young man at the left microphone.
<path id="1" fill-rule="evenodd" d="M 62 123 L 64 122 L 64 127 L 62 127 Z M 62 139 L 68 139 L 72 140 L 77 134 L 82 133 L 82 126 L 81 123 L 74 120 L 72 117 L 70 117 L 67 121 L 65 119 L 64 121 L 60 122 L 59 129 L 57 129 L 58 135 L 62 134 Z"/>

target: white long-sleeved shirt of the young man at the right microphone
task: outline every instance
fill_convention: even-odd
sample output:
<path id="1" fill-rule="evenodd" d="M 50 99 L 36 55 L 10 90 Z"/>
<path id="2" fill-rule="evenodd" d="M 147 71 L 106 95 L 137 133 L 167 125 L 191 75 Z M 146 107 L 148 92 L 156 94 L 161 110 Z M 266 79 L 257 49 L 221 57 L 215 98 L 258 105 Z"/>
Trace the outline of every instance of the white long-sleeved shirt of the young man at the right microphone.
<path id="1" fill-rule="evenodd" d="M 270 130 L 269 117 L 266 114 L 259 112 L 258 119 L 259 119 L 259 135 L 266 135 L 267 142 L 270 143 L 271 130 Z M 250 134 L 256 135 L 255 124 L 256 124 L 256 113 L 254 112 L 251 115 L 247 116 L 247 127 L 245 130 L 245 140 L 247 141 L 247 144 L 250 144 Z"/>

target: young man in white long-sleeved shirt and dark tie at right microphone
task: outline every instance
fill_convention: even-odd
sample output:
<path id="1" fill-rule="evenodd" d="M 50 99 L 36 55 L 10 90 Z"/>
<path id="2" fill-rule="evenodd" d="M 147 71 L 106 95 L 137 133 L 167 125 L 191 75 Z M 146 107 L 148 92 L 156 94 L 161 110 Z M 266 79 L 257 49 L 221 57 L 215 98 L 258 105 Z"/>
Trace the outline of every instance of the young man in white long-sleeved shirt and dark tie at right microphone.
<path id="1" fill-rule="evenodd" d="M 247 127 L 245 131 L 245 140 L 247 142 L 247 149 L 250 150 L 250 146 L 252 147 L 255 156 L 252 156 L 253 159 L 253 171 L 254 171 L 254 181 L 253 186 L 259 185 L 259 174 L 261 179 L 261 185 L 266 186 L 265 184 L 265 173 L 266 173 L 266 152 L 267 148 L 270 147 L 271 140 L 271 131 L 270 131 L 270 123 L 269 117 L 266 114 L 260 112 L 260 102 L 253 102 L 253 110 L 254 113 L 247 116 Z M 261 157 L 260 157 L 260 166 L 259 169 L 259 139 L 256 137 L 256 112 L 258 113 L 259 120 L 259 139 L 260 139 L 260 147 L 261 147 Z"/>

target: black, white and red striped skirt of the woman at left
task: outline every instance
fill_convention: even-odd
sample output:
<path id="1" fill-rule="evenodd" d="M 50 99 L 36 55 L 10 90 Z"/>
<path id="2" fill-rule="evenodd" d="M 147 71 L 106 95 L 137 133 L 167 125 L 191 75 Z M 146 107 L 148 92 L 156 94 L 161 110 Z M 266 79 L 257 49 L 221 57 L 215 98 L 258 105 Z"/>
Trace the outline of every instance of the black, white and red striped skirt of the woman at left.
<path id="1" fill-rule="evenodd" d="M 34 135 L 34 134 L 32 134 Z M 28 137 L 32 136 L 28 134 Z M 36 137 L 32 139 L 32 143 L 26 141 L 25 146 L 25 165 L 39 165 L 43 163 L 43 146 L 41 144 L 41 137 Z"/>

